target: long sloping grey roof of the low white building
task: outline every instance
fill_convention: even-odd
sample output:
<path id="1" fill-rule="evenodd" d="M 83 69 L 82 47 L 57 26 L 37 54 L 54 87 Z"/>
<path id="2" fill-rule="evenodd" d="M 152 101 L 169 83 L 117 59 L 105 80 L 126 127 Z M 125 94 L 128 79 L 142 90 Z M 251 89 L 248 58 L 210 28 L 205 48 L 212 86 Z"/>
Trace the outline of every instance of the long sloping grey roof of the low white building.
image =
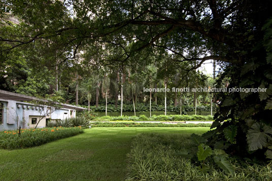
<path id="1" fill-rule="evenodd" d="M 6 100 L 16 100 L 16 101 L 43 101 L 43 102 L 52 102 L 53 104 L 60 104 L 62 106 L 62 108 L 69 108 L 71 110 L 77 110 L 77 111 L 87 110 L 87 108 L 76 106 L 76 105 L 64 104 L 64 103 L 60 103 L 60 102 L 49 101 L 49 100 L 41 99 L 41 98 L 38 98 L 38 97 L 33 97 L 33 96 L 29 96 L 29 95 L 24 95 L 24 94 L 18 94 L 18 93 L 4 91 L 4 90 L 0 90 L 0 98 L 6 99 Z"/>

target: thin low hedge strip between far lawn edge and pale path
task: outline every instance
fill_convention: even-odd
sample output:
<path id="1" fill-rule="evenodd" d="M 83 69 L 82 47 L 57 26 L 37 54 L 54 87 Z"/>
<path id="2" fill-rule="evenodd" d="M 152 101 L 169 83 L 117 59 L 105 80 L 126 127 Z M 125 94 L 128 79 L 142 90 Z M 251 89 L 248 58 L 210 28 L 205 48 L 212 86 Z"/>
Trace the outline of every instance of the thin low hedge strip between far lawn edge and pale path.
<path id="1" fill-rule="evenodd" d="M 92 127 L 211 127 L 208 123 L 188 124 L 163 124 L 163 123 L 109 123 L 95 122 Z"/>

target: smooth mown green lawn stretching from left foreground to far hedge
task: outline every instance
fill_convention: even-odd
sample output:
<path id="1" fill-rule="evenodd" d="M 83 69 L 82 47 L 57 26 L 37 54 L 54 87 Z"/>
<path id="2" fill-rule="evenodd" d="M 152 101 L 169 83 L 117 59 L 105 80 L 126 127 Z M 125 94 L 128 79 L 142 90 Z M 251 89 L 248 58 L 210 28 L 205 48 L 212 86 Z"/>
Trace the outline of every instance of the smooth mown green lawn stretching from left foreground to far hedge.
<path id="1" fill-rule="evenodd" d="M 208 127 L 92 128 L 40 147 L 0 150 L 0 180 L 124 180 L 126 154 L 139 133 L 203 133 Z"/>

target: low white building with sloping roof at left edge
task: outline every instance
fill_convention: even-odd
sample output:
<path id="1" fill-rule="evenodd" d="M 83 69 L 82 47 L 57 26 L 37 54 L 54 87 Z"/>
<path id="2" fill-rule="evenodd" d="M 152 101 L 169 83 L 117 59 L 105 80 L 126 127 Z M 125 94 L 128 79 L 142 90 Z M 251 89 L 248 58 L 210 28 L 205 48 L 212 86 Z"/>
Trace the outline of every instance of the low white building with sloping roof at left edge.
<path id="1" fill-rule="evenodd" d="M 35 102 L 40 102 L 40 104 Z M 76 111 L 83 110 L 87 109 L 0 90 L 0 131 L 15 130 L 19 126 L 22 129 L 35 128 L 38 123 L 37 127 L 45 127 L 46 122 L 50 119 L 62 120 L 76 117 Z"/>

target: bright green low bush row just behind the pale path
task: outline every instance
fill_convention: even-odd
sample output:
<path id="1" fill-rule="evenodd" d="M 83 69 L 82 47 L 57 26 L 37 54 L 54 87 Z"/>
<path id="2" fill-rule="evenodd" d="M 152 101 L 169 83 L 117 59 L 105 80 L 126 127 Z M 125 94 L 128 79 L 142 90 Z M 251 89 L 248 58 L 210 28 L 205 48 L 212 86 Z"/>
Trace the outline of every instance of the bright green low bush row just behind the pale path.
<path id="1" fill-rule="evenodd" d="M 212 121 L 213 117 L 209 116 L 200 116 L 200 115 L 159 115 L 152 116 L 151 118 L 146 117 L 145 115 L 141 116 L 103 116 L 94 121 Z"/>

